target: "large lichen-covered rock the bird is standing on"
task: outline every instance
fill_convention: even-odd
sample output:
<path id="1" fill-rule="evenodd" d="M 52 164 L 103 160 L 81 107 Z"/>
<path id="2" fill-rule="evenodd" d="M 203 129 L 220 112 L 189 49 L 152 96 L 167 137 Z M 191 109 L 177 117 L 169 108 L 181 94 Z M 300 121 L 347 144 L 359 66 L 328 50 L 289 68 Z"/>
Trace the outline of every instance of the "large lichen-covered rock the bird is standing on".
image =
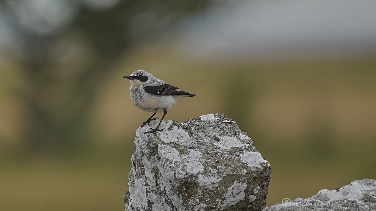
<path id="1" fill-rule="evenodd" d="M 234 121 L 209 114 L 160 128 L 166 130 L 156 135 L 144 134 L 148 127 L 136 131 L 126 211 L 264 208 L 270 164 Z"/>

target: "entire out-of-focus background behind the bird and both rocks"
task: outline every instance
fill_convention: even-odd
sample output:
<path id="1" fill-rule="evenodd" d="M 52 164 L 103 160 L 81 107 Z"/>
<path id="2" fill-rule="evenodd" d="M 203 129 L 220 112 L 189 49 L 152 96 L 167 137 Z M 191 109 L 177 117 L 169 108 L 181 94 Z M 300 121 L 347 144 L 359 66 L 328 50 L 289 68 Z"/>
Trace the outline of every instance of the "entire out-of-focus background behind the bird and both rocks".
<path id="1" fill-rule="evenodd" d="M 372 1 L 0 1 L 2 210 L 123 210 L 138 69 L 225 113 L 271 163 L 267 206 L 376 178 Z M 194 109 L 192 109 L 194 108 Z M 160 116 L 159 116 L 160 117 Z"/>

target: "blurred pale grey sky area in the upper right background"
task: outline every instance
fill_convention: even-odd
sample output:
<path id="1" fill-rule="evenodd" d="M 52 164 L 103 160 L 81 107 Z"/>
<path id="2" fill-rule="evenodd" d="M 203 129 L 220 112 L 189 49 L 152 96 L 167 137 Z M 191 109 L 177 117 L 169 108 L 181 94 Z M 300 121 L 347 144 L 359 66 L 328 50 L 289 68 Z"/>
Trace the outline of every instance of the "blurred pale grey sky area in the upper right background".
<path id="1" fill-rule="evenodd" d="M 376 1 L 229 1 L 179 30 L 178 49 L 197 58 L 367 56 L 376 53 Z"/>

